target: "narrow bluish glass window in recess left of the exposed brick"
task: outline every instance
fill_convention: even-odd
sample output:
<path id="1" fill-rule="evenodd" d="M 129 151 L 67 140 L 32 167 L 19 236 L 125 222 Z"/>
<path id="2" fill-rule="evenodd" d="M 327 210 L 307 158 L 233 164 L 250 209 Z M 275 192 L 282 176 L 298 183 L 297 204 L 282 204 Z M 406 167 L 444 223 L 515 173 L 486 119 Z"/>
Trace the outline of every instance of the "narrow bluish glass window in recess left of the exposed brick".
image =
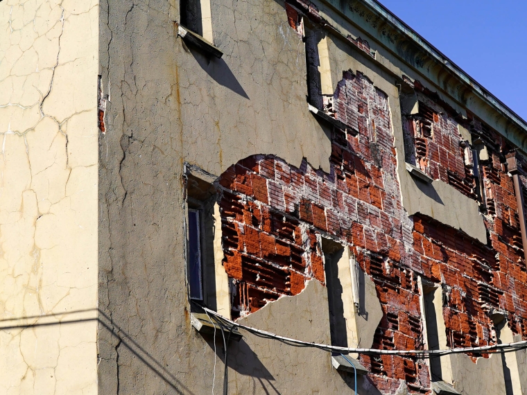
<path id="1" fill-rule="evenodd" d="M 189 287 L 191 299 L 203 300 L 200 211 L 189 209 Z"/>

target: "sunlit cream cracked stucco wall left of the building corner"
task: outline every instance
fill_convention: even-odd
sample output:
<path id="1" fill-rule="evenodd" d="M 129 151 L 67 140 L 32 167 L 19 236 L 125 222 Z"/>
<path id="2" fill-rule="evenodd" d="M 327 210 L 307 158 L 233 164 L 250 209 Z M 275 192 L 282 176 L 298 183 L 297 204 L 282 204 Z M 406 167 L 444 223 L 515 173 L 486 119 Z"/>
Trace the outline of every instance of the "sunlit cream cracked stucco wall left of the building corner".
<path id="1" fill-rule="evenodd" d="M 0 2 L 0 394 L 96 393 L 97 46 L 97 1 Z"/>

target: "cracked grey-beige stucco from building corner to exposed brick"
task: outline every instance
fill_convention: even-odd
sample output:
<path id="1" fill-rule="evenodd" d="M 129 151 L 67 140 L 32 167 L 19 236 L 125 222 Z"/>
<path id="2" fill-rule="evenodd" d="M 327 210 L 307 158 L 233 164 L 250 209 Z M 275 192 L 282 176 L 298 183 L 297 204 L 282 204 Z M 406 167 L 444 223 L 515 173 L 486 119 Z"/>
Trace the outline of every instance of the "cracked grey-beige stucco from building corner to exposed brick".
<path id="1" fill-rule="evenodd" d="M 304 44 L 274 0 L 213 6 L 222 60 L 182 45 L 175 1 L 105 1 L 100 12 L 108 100 L 99 139 L 99 307 L 110 323 L 98 332 L 99 392 L 209 393 L 214 346 L 191 328 L 186 303 L 183 163 L 220 175 L 264 152 L 329 170 L 330 139 L 306 103 Z M 236 380 L 253 382 L 247 374 Z M 216 392 L 220 385 L 216 377 Z"/>

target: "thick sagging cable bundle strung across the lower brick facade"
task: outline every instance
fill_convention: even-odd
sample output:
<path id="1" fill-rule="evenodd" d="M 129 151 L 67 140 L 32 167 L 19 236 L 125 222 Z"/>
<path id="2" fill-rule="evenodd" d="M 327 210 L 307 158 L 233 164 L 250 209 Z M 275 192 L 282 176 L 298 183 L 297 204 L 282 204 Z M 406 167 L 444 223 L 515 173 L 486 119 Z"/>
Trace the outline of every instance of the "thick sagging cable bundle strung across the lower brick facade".
<path id="1" fill-rule="evenodd" d="M 508 344 L 494 344 L 492 346 L 478 346 L 478 347 L 464 347 L 456 349 L 445 349 L 445 350 L 379 350 L 379 349 L 358 349 L 358 348 L 347 348 L 340 346 L 330 346 L 329 344 L 319 344 L 314 342 L 304 342 L 302 340 L 292 339 L 291 337 L 284 337 L 276 335 L 268 331 L 262 331 L 261 329 L 252 328 L 250 326 L 245 326 L 239 324 L 230 319 L 222 317 L 218 313 L 209 308 L 203 307 L 203 309 L 216 317 L 220 322 L 223 322 L 225 326 L 231 326 L 233 329 L 241 328 L 253 335 L 262 337 L 264 339 L 278 340 L 284 344 L 288 344 L 296 347 L 312 347 L 320 349 L 323 351 L 329 351 L 334 353 L 360 353 L 363 355 L 369 356 L 379 356 L 379 355 L 390 355 L 390 356 L 401 356 L 401 357 L 415 357 L 415 358 L 437 358 L 441 356 L 448 356 L 450 354 L 460 354 L 460 353 L 509 353 L 513 351 L 519 351 L 527 349 L 527 340 L 521 342 L 514 342 Z"/>

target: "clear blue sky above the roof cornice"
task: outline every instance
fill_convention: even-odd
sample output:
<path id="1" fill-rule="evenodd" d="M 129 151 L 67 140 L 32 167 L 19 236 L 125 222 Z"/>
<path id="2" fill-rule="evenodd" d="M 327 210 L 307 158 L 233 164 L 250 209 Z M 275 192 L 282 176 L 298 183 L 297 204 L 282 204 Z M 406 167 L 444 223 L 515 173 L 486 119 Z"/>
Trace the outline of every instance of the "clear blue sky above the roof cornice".
<path id="1" fill-rule="evenodd" d="M 527 1 L 379 2 L 527 121 Z"/>

